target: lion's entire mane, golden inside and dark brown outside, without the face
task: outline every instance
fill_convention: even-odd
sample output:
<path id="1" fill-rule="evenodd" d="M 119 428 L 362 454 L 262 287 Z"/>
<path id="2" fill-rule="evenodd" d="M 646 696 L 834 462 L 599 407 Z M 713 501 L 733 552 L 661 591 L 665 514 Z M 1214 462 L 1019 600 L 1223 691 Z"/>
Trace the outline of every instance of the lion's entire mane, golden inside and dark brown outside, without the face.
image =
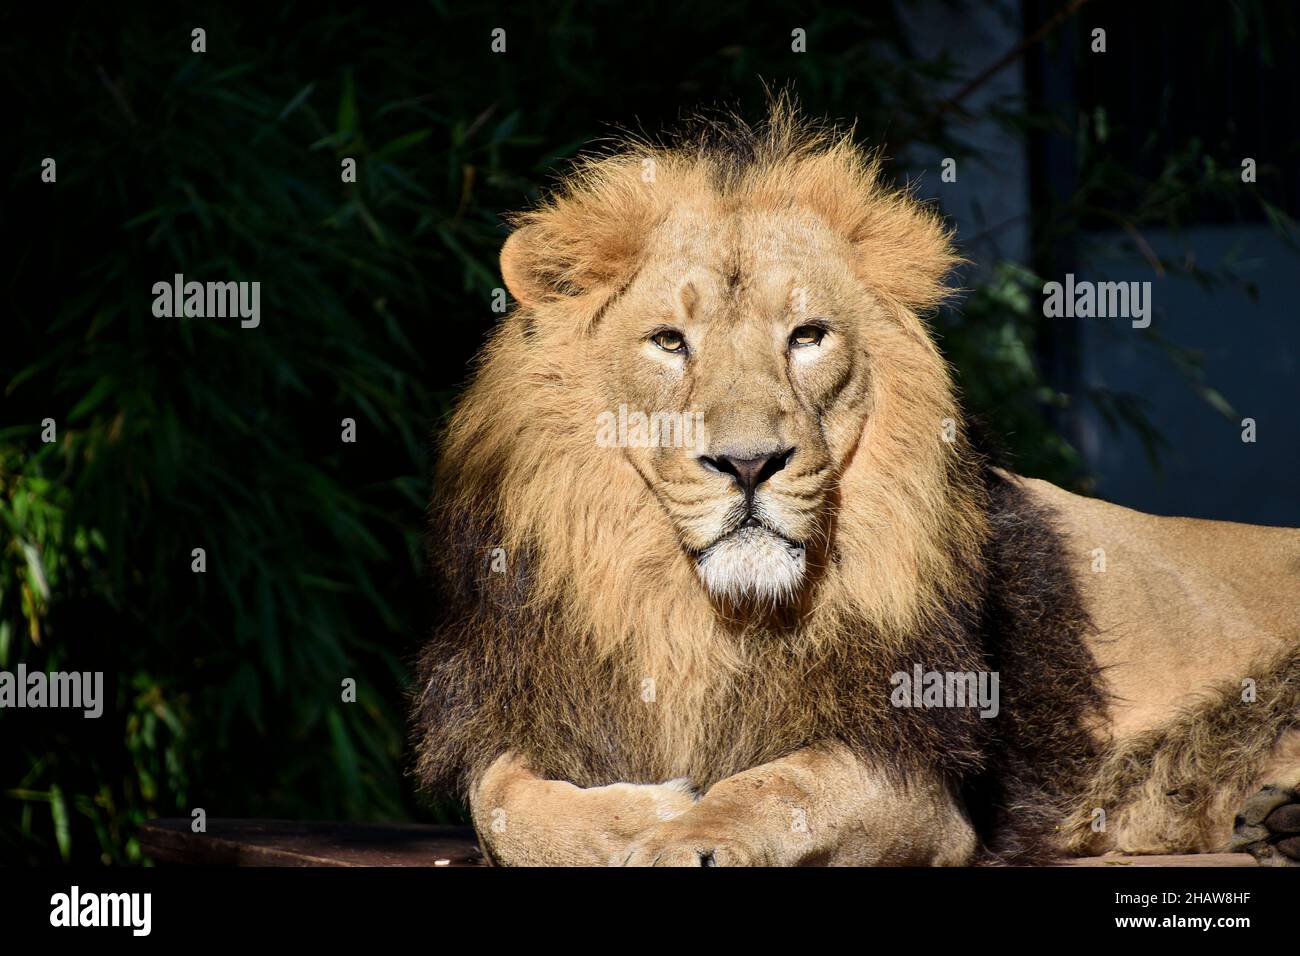
<path id="1" fill-rule="evenodd" d="M 536 347 L 538 329 L 588 334 L 680 203 L 802 206 L 863 250 L 862 281 L 894 319 L 872 343 L 868 425 L 823 559 L 781 613 L 710 600 L 642 477 L 592 441 L 602 356 Z M 1046 845 L 1061 782 L 1091 758 L 1100 691 L 1050 516 L 971 450 L 919 317 L 954 263 L 937 216 L 888 187 L 849 134 L 780 100 L 759 127 L 705 122 L 581 160 L 516 225 L 533 230 L 549 285 L 493 334 L 442 441 L 421 782 L 464 795 L 512 749 L 578 786 L 688 777 L 705 790 L 835 740 L 900 779 L 948 775 L 991 857 Z M 918 663 L 1001 669 L 1002 717 L 892 706 L 890 675 Z"/>

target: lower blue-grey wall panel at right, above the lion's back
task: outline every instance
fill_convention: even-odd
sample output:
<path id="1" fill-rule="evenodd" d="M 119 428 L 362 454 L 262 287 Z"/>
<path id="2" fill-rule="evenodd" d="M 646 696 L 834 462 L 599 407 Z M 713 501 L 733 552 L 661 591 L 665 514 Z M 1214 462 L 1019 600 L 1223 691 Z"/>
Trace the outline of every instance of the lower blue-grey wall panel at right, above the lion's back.
<path id="1" fill-rule="evenodd" d="M 1230 260 L 1256 284 L 1258 300 L 1236 289 L 1160 278 L 1136 255 L 1118 252 L 1115 237 L 1093 237 L 1076 276 L 1149 280 L 1149 332 L 1197 350 L 1205 384 L 1236 412 L 1226 419 L 1210 407 L 1128 321 L 1061 320 L 1082 323 L 1084 381 L 1140 397 L 1169 442 L 1157 471 L 1136 438 L 1117 437 L 1100 416 L 1087 415 L 1083 453 L 1100 479 L 1097 493 L 1156 514 L 1300 527 L 1300 256 L 1264 225 L 1144 238 L 1160 256 L 1192 255 L 1206 267 Z M 1243 418 L 1256 420 L 1253 445 L 1242 441 Z"/>

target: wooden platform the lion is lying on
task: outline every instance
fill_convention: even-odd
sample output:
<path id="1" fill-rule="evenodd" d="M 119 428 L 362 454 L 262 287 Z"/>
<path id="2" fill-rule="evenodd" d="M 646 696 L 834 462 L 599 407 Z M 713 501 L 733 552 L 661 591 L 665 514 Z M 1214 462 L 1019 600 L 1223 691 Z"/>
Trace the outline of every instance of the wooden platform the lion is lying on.
<path id="1" fill-rule="evenodd" d="M 188 819 L 151 819 L 140 844 L 156 862 L 185 866 L 482 866 L 473 830 L 416 823 L 296 823 L 209 819 L 196 834 Z M 1062 860 L 1061 866 L 1254 866 L 1245 853 L 1121 856 Z"/>

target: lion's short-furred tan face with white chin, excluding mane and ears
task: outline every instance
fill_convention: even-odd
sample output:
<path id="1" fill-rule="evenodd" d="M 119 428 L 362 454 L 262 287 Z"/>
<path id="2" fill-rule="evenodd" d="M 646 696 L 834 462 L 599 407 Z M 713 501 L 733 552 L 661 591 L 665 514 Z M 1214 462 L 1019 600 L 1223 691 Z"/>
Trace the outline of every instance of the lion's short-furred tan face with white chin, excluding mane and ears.
<path id="1" fill-rule="evenodd" d="M 650 425 L 621 451 L 715 596 L 798 591 L 866 416 L 870 303 L 816 217 L 685 211 L 602 317 L 611 416 Z"/>

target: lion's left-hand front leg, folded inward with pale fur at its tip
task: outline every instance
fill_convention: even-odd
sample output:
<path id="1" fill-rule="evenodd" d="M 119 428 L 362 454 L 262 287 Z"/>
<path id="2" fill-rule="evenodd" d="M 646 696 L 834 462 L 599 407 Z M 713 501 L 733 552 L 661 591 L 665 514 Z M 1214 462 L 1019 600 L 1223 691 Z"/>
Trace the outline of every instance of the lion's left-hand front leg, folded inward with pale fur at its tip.
<path id="1" fill-rule="evenodd" d="M 685 782 L 575 787 L 506 753 L 472 787 L 484 855 L 506 866 L 606 866 L 649 827 L 694 805 Z"/>

